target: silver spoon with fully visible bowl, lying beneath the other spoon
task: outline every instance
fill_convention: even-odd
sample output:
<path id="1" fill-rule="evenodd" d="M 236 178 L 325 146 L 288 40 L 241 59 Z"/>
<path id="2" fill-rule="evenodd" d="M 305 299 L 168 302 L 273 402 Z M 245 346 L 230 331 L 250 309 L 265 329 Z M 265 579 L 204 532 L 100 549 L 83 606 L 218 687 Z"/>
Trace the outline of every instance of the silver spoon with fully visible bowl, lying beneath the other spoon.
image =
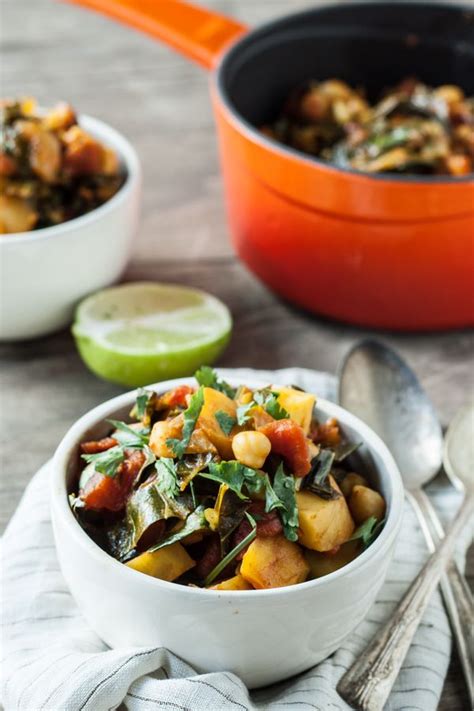
<path id="1" fill-rule="evenodd" d="M 370 340 L 356 344 L 347 354 L 340 368 L 339 383 L 341 405 L 365 420 L 391 449 L 433 552 L 444 531 L 421 487 L 441 467 L 443 435 L 426 393 L 394 351 Z M 466 624 L 472 618 L 472 596 L 454 562 L 449 564 L 448 576 L 443 575 L 441 587 L 472 700 Z"/>

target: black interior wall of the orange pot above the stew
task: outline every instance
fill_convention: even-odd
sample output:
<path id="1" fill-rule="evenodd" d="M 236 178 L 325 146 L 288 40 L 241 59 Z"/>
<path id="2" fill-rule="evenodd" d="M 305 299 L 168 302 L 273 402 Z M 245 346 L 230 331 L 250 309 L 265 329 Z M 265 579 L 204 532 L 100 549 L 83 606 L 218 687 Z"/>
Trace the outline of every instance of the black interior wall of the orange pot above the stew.
<path id="1" fill-rule="evenodd" d="M 352 3 L 292 15 L 251 32 L 224 58 L 224 100 L 250 124 L 275 118 L 292 88 L 343 79 L 376 98 L 406 77 L 474 94 L 474 8 Z"/>

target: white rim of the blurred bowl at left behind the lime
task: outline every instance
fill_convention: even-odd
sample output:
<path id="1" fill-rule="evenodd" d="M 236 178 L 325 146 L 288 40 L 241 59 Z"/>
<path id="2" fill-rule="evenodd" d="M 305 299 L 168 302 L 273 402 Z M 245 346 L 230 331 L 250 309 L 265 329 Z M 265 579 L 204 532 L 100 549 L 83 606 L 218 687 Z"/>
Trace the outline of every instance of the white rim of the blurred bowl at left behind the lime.
<path id="1" fill-rule="evenodd" d="M 90 212 L 86 212 L 84 215 L 73 217 L 71 220 L 66 220 L 66 222 L 61 222 L 59 225 L 53 225 L 51 227 L 42 227 L 38 230 L 11 232 L 1 235 L 0 249 L 3 245 L 24 244 L 30 240 L 38 241 L 52 239 L 54 237 L 66 239 L 69 233 L 75 232 L 82 227 L 87 227 L 91 222 L 100 220 L 107 213 L 114 210 L 119 203 L 123 203 L 127 200 L 130 192 L 140 180 L 141 168 L 138 154 L 130 141 L 125 138 L 122 133 L 112 128 L 112 126 L 105 123 L 105 121 L 101 121 L 93 116 L 88 116 L 87 114 L 80 114 L 78 116 L 78 123 L 89 131 L 91 135 L 96 136 L 101 141 L 104 141 L 106 145 L 111 146 L 117 151 L 126 172 L 123 185 L 120 186 L 115 195 L 109 200 Z"/>

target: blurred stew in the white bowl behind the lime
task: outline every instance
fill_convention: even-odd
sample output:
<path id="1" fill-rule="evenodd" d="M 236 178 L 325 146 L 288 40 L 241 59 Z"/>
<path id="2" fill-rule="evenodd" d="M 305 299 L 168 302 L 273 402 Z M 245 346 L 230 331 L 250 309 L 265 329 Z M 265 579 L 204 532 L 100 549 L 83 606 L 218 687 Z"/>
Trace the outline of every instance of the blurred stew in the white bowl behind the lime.
<path id="1" fill-rule="evenodd" d="M 42 112 L 34 99 L 5 100 L 0 132 L 0 233 L 85 215 L 124 182 L 117 152 L 82 128 L 69 104 Z"/>

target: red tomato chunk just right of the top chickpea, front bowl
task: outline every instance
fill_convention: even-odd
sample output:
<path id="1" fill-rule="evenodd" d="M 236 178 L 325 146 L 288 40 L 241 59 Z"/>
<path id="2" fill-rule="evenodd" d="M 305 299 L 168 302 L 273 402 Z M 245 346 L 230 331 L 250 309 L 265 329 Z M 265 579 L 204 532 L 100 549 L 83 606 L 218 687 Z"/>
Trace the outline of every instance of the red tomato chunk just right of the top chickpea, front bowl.
<path id="1" fill-rule="evenodd" d="M 259 428 L 268 437 L 272 452 L 280 454 L 295 476 L 306 476 L 311 468 L 308 442 L 303 428 L 293 420 L 275 420 Z"/>

